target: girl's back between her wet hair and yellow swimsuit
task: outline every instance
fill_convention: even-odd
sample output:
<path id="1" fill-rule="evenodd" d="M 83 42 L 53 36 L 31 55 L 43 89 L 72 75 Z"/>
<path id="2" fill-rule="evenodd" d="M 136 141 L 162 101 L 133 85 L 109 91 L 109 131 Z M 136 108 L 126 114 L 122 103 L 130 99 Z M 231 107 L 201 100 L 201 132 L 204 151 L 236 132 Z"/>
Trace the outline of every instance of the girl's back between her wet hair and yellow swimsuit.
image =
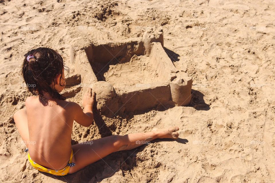
<path id="1" fill-rule="evenodd" d="M 44 104 L 39 97 L 26 102 L 29 128 L 29 153 L 38 164 L 59 170 L 70 158 L 71 134 L 74 122 L 69 102 L 59 100 Z"/>

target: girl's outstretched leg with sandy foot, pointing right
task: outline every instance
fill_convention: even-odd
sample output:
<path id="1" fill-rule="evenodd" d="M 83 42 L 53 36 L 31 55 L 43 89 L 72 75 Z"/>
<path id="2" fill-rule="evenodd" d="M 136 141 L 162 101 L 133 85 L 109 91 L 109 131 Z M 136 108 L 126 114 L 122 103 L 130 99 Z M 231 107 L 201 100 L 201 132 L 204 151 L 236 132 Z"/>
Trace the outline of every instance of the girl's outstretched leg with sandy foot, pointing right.
<path id="1" fill-rule="evenodd" d="M 178 131 L 178 127 L 175 126 L 166 129 L 154 129 L 146 133 L 133 133 L 124 136 L 113 135 L 73 145 L 74 157 L 72 162 L 75 163 L 75 166 L 70 168 L 69 173 L 72 174 L 112 152 L 130 150 L 157 138 L 177 139 L 178 132 L 176 131 Z"/>

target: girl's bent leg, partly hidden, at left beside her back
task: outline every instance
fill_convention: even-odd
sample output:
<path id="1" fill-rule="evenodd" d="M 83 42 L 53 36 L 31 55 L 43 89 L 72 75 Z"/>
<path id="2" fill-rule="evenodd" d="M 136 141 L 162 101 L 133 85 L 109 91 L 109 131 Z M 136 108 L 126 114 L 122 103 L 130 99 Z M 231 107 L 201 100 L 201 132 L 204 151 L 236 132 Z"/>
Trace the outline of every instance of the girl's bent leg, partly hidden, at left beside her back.
<path id="1" fill-rule="evenodd" d="M 26 108 L 20 109 L 19 111 L 15 112 L 13 115 L 13 119 L 15 122 L 15 126 L 25 143 L 25 145 L 29 146 L 29 129 L 28 129 L 28 118 Z"/>

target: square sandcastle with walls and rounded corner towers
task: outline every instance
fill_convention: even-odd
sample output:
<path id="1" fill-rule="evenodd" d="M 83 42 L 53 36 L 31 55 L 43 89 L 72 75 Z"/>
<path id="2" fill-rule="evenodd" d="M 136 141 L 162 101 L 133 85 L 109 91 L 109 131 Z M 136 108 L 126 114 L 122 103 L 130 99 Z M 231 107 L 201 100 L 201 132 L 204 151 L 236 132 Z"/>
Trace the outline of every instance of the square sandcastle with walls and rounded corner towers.
<path id="1" fill-rule="evenodd" d="M 180 74 L 164 51 L 162 29 L 120 42 L 93 43 L 76 52 L 74 64 L 84 90 L 92 87 L 97 109 L 105 116 L 159 105 L 187 106 L 191 100 L 192 79 Z"/>

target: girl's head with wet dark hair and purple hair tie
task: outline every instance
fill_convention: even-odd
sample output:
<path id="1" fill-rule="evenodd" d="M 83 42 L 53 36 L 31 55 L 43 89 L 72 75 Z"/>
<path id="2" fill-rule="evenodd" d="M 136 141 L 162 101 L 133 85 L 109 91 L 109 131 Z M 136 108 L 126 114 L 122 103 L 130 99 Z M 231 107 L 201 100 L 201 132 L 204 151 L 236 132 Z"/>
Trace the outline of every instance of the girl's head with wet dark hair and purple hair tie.
<path id="1" fill-rule="evenodd" d="M 37 48 L 28 51 L 22 66 L 22 74 L 29 91 L 44 99 L 48 93 L 53 99 L 65 100 L 60 94 L 66 85 L 61 55 L 50 48 Z"/>

